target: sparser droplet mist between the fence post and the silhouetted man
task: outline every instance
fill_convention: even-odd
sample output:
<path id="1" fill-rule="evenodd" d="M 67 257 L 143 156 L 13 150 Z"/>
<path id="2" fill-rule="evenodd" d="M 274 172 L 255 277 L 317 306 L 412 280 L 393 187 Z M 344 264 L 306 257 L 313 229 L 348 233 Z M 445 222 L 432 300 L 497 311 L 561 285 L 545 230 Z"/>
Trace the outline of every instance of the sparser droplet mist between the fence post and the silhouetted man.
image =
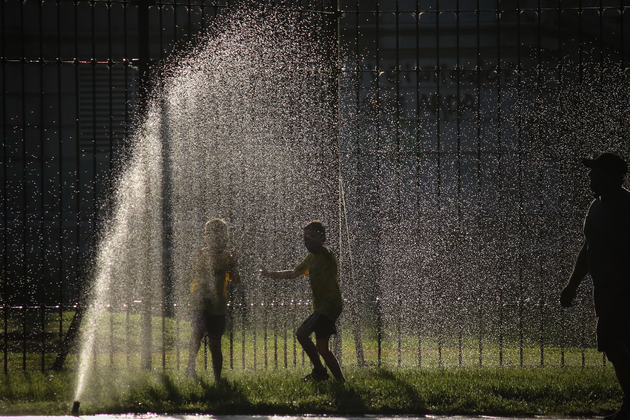
<path id="1" fill-rule="evenodd" d="M 496 90 L 481 87 L 481 120 L 477 104 L 432 109 L 435 84 L 418 81 L 416 96 L 413 77 L 398 98 L 393 76 L 380 96 L 355 94 L 365 73 L 342 79 L 355 282 L 366 301 L 379 298 L 380 314 L 372 304 L 365 319 L 383 326 L 388 365 L 518 364 L 519 346 L 525 365 L 541 363 L 541 348 L 559 365 L 561 346 L 594 345 L 588 280 L 572 309 L 558 294 L 592 200 L 581 157 L 630 157 L 630 84 L 619 69 L 570 68 L 520 86 L 505 72 L 500 109 Z M 452 81 L 442 89 L 457 97 Z"/>

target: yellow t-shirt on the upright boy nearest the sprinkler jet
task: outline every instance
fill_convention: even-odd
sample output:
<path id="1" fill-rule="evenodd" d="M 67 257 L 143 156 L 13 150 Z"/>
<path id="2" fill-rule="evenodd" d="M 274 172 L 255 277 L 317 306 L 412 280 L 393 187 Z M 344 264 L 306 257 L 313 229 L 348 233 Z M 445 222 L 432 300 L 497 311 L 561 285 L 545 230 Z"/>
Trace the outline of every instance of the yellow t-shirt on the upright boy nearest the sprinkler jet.
<path id="1" fill-rule="evenodd" d="M 209 248 L 200 249 L 193 261 L 193 281 L 190 305 L 193 310 L 205 310 L 213 315 L 227 315 L 227 281 L 234 267 L 229 252 L 215 254 Z"/>

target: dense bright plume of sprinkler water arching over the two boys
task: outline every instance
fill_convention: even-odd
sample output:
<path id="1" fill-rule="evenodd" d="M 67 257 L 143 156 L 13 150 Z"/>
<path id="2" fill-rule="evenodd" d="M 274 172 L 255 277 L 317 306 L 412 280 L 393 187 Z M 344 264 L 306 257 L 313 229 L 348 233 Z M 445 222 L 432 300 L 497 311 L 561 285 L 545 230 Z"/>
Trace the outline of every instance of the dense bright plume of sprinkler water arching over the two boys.
<path id="1" fill-rule="evenodd" d="M 243 285 L 232 300 L 266 311 L 270 300 L 307 297 L 306 285 L 261 284 L 255 273 L 259 264 L 290 268 L 304 254 L 301 227 L 335 220 L 338 158 L 320 32 L 303 16 L 231 11 L 166 66 L 98 248 L 75 400 L 96 353 L 129 344 L 112 343 L 108 314 L 149 305 L 160 315 L 168 305 L 187 318 L 191 257 L 209 219 L 227 221 L 239 254 Z"/>

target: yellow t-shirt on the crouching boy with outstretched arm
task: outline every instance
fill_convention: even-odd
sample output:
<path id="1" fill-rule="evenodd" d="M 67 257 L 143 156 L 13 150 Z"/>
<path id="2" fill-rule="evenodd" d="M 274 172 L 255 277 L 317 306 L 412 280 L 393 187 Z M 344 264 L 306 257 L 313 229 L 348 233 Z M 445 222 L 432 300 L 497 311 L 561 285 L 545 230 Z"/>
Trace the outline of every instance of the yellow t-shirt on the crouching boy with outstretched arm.
<path id="1" fill-rule="evenodd" d="M 324 247 L 324 251 L 319 254 L 309 253 L 295 267 L 297 273 L 309 276 L 313 293 L 313 312 L 318 311 L 333 322 L 341 315 L 343 309 L 337 266 L 335 253 Z"/>

